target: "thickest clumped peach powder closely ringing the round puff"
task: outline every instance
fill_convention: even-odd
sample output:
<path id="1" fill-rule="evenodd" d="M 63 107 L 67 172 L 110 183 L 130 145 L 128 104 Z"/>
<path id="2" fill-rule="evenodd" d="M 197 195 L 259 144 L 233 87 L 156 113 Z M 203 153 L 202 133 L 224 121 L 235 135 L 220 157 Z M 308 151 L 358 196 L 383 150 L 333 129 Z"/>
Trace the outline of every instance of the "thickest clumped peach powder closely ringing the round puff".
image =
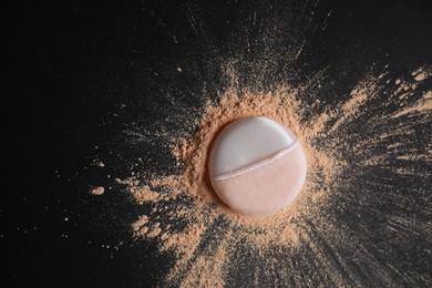
<path id="1" fill-rule="evenodd" d="M 161 199 L 171 200 L 171 209 L 167 217 L 187 222 L 186 227 L 181 232 L 174 232 L 164 223 L 154 227 L 147 222 L 152 215 L 143 216 L 134 225 L 135 235 L 146 238 L 157 237 L 161 251 L 172 250 L 176 257 L 176 264 L 167 275 L 167 280 L 178 281 L 183 287 L 191 286 L 223 286 L 222 271 L 227 263 L 226 247 L 235 247 L 240 241 L 246 241 L 254 249 L 267 249 L 270 246 L 297 246 L 300 245 L 300 233 L 296 229 L 295 223 L 300 220 L 301 213 L 310 213 L 313 209 L 312 202 L 318 202 L 322 192 L 322 183 L 327 189 L 332 186 L 332 179 L 338 168 L 344 164 L 342 161 L 321 151 L 310 143 L 322 133 L 325 124 L 329 121 L 328 114 L 319 114 L 308 123 L 300 123 L 304 106 L 301 101 L 296 99 L 298 91 L 288 86 L 281 86 L 271 93 L 253 93 L 229 90 L 219 97 L 218 103 L 208 102 L 204 113 L 197 120 L 197 131 L 192 140 L 178 140 L 179 145 L 173 147 L 173 155 L 178 160 L 183 173 L 166 177 L 154 178 L 148 185 L 136 185 L 141 181 L 131 177 L 120 181 L 127 185 L 127 189 L 140 204 L 152 203 L 162 212 Z M 360 102 L 362 93 L 352 94 L 351 102 Z M 358 100 L 359 99 L 359 100 Z M 350 110 L 351 104 L 346 105 Z M 295 135 L 302 143 L 308 163 L 308 183 L 304 187 L 301 196 L 288 208 L 270 216 L 245 216 L 229 210 L 218 200 L 210 187 L 207 175 L 207 157 L 213 142 L 220 130 L 228 123 L 247 116 L 268 116 L 289 126 Z M 152 191 L 156 187 L 164 187 L 162 192 Z M 188 205 L 176 202 L 182 196 L 189 196 Z M 310 213 L 310 215 L 315 215 Z M 315 215 L 317 218 L 319 215 Z M 145 220 L 143 220 L 145 219 Z M 232 229 L 237 233 L 233 236 L 224 236 L 219 239 L 218 247 L 208 251 L 200 251 L 199 244 L 207 230 L 213 230 L 216 223 L 228 224 L 229 228 L 224 234 L 230 234 Z M 212 232 L 209 232 L 212 233 Z M 305 238 L 302 238 L 305 241 Z"/>

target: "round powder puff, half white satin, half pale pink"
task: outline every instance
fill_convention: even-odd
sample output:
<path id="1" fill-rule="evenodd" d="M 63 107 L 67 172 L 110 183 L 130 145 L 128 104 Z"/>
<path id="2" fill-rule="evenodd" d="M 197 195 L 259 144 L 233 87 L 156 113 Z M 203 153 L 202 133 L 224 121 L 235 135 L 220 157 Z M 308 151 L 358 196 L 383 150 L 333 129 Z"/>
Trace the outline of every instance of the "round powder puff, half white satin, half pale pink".
<path id="1" fill-rule="evenodd" d="M 282 124 L 268 117 L 241 119 L 216 140 L 209 161 L 212 186 L 241 214 L 264 215 L 288 206 L 306 179 L 300 143 Z"/>

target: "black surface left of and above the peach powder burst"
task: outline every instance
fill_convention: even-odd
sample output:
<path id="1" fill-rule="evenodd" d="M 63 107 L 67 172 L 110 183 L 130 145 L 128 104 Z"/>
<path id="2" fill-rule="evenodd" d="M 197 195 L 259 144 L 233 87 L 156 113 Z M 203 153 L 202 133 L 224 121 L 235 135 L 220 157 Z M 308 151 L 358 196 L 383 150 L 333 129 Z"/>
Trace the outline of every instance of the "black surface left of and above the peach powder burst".
<path id="1" fill-rule="evenodd" d="M 328 103 L 338 102 L 330 92 L 349 91 L 371 66 L 390 64 L 401 74 L 431 64 L 432 17 L 425 2 L 307 2 L 312 16 L 289 12 L 304 1 L 10 3 L 2 9 L 7 185 L 0 243 L 7 279 L 13 286 L 151 287 L 171 259 L 132 239 L 130 224 L 143 208 L 126 194 L 88 193 L 90 185 L 105 185 L 106 174 L 130 175 L 127 164 L 140 151 L 122 146 L 120 131 L 134 121 L 163 122 L 169 111 L 162 91 L 197 109 L 203 83 L 216 97 L 227 81 L 219 66 L 225 59 L 239 60 L 240 86 L 261 90 L 330 66 L 339 84 L 323 91 Z M 250 27 L 254 12 L 258 21 L 286 31 L 267 37 L 267 48 L 280 56 L 260 83 L 250 72 L 255 59 L 266 61 L 266 45 L 263 32 Z M 256 39 L 248 52 L 245 27 Z M 306 52 L 288 63 L 284 51 L 294 31 L 307 40 Z M 145 169 L 168 173 L 174 161 L 155 147 L 142 147 L 157 158 Z M 109 158 L 103 174 L 91 165 L 97 157 Z"/>

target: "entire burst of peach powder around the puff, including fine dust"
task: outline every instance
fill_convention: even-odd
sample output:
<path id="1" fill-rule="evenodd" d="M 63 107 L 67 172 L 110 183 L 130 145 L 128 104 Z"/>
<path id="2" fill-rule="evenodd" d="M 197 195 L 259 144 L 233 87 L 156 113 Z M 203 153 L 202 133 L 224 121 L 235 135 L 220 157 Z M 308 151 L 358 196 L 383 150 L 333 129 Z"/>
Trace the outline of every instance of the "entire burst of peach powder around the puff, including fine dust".
<path id="1" fill-rule="evenodd" d="M 188 11 L 195 33 L 205 39 L 194 9 Z M 259 18 L 249 20 L 254 25 L 259 22 Z M 310 22 L 309 17 L 292 21 L 294 27 Z M 266 43 L 263 55 L 241 59 L 256 72 L 251 80 L 258 84 L 241 84 L 236 56 L 217 59 L 224 80 L 217 95 L 199 83 L 203 105 L 195 109 L 167 88 L 162 96 L 174 112 L 158 127 L 131 124 L 123 131 L 128 148 L 158 143 L 154 148 L 171 153 L 176 163 L 168 169 L 172 173 L 148 168 L 115 178 L 121 191 L 148 212 L 130 224 L 131 234 L 173 259 L 164 279 L 154 285 L 432 286 L 431 275 L 419 274 L 432 269 L 432 92 L 428 89 L 432 68 L 419 66 L 398 78 L 388 66 L 383 71 L 370 68 L 348 93 L 335 95 L 340 101 L 326 101 L 332 97 L 321 94 L 326 92 L 320 83 L 328 81 L 326 69 L 301 81 L 275 76 L 275 84 L 264 88 L 259 83 L 269 81 L 267 73 L 277 74 L 276 63 L 285 59 L 294 65 L 308 42 L 298 30 L 287 30 L 291 23 L 275 30 L 271 23 L 260 28 L 266 31 L 257 40 Z M 279 34 L 282 30 L 287 34 Z M 270 41 L 282 35 L 291 41 L 288 50 Z M 187 73 L 185 68 L 174 70 Z M 267 116 L 287 125 L 308 161 L 298 198 L 269 216 L 230 212 L 208 178 L 216 135 L 247 116 Z M 172 123 L 181 128 L 171 128 Z"/>

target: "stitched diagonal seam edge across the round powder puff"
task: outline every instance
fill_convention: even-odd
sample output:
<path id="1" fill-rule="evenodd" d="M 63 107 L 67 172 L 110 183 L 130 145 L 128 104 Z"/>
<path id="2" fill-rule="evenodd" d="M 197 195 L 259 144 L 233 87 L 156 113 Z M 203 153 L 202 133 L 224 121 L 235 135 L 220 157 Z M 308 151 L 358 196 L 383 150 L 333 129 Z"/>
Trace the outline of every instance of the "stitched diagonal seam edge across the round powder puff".
<path id="1" fill-rule="evenodd" d="M 238 177 L 238 176 L 245 175 L 245 174 L 247 174 L 249 172 L 254 172 L 256 169 L 263 168 L 263 167 L 274 163 L 275 161 L 280 160 L 285 155 L 287 155 L 288 153 L 294 151 L 298 146 L 298 144 L 299 144 L 299 142 L 296 140 L 291 145 L 289 145 L 288 147 L 282 148 L 281 151 L 279 151 L 278 153 L 271 155 L 270 157 L 267 157 L 265 160 L 255 162 L 255 163 L 253 163 L 253 164 L 250 164 L 250 165 L 248 165 L 246 167 L 243 167 L 243 168 L 238 168 L 238 169 L 235 169 L 235 171 L 232 171 L 232 172 L 223 173 L 220 175 L 217 175 L 217 176 L 213 177 L 212 181 L 213 182 L 226 181 L 226 179 Z"/>

